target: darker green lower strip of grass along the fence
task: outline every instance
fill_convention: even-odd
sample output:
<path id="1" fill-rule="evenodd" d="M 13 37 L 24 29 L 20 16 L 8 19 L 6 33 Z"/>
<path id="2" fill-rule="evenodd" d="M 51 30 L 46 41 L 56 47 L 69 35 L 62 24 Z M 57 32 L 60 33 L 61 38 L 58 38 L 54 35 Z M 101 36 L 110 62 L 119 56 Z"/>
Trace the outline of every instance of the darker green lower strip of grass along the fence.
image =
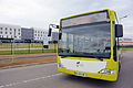
<path id="1" fill-rule="evenodd" d="M 31 50 L 30 52 L 28 50 L 14 51 L 14 54 L 37 54 L 37 53 L 54 53 L 54 50 L 43 50 L 43 51 L 42 50 Z M 11 54 L 11 51 L 0 52 L 0 55 L 9 55 L 9 54 Z"/>

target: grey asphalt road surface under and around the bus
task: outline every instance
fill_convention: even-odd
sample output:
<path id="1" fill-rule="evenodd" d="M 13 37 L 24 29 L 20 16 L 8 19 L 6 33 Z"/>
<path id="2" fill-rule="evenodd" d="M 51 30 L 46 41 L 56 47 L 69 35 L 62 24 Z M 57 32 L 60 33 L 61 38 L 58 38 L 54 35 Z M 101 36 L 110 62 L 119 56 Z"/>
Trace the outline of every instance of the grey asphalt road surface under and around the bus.
<path id="1" fill-rule="evenodd" d="M 133 51 L 124 53 L 115 82 L 58 73 L 57 64 L 0 70 L 0 88 L 133 88 Z"/>

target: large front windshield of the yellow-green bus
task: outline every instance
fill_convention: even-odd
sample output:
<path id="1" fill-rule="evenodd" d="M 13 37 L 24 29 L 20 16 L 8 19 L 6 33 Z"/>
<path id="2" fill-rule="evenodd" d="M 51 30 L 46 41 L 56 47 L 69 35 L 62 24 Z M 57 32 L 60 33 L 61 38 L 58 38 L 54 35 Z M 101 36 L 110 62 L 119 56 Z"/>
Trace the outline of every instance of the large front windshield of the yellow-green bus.
<path id="1" fill-rule="evenodd" d="M 59 40 L 60 56 L 111 56 L 110 22 L 62 28 Z"/>

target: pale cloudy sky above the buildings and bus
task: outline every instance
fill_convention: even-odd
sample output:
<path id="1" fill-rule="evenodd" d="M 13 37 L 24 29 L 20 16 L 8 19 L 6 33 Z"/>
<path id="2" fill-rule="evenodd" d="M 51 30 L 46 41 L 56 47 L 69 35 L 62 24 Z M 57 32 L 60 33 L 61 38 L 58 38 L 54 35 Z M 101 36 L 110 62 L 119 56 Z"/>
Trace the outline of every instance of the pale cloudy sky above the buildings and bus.
<path id="1" fill-rule="evenodd" d="M 124 36 L 133 37 L 133 0 L 0 0 L 0 23 L 29 28 L 59 24 L 61 18 L 111 9 L 121 19 Z"/>

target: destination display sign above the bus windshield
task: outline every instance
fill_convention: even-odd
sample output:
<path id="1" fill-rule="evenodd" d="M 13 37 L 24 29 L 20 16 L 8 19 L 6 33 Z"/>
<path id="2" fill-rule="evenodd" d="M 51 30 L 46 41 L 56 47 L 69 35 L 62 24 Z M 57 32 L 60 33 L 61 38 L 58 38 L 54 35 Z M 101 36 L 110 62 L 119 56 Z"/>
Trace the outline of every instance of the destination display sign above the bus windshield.
<path id="1" fill-rule="evenodd" d="M 61 24 L 62 24 L 61 26 L 66 28 L 66 26 L 102 22 L 102 21 L 110 21 L 110 19 L 108 18 L 106 11 L 64 19 L 61 21 Z"/>

